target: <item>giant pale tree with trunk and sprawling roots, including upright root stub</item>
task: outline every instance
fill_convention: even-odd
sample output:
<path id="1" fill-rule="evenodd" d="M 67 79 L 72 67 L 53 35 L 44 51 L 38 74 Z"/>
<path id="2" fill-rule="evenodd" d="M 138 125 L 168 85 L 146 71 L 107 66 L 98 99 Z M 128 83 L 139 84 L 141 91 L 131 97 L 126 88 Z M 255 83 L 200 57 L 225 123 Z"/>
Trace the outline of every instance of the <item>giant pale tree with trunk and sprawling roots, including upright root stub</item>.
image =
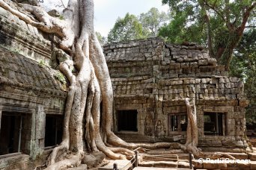
<path id="1" fill-rule="evenodd" d="M 192 151 L 197 156 L 201 154 L 197 148 L 198 129 L 195 102 L 190 105 L 189 98 L 185 100 L 189 118 L 186 145 L 170 142 L 127 143 L 112 132 L 113 90 L 103 50 L 94 34 L 93 0 L 70 0 L 67 9 L 64 10 L 64 20 L 49 16 L 41 7 L 19 5 L 34 13 L 40 22 L 13 10 L 5 1 L 0 0 L 0 7 L 18 16 L 19 19 L 41 31 L 61 37 L 60 48 L 64 50 L 61 53 L 70 54 L 70 59 L 64 60 L 59 65 L 59 70 L 70 82 L 64 111 L 63 139 L 49 156 L 47 169 L 79 166 L 85 152 L 88 154 L 95 151 L 102 151 L 107 157 L 115 160 L 130 158 L 134 154 L 134 151 L 130 149 L 140 147 L 182 148 L 184 151 Z M 72 72 L 73 66 L 77 70 L 75 74 Z M 103 113 L 100 113 L 101 101 Z M 102 130 L 100 130 L 100 116 L 103 120 Z M 85 119 L 85 127 L 83 127 L 83 119 Z M 83 134 L 83 129 L 85 129 L 85 134 Z M 56 161 L 60 155 L 62 160 Z"/>

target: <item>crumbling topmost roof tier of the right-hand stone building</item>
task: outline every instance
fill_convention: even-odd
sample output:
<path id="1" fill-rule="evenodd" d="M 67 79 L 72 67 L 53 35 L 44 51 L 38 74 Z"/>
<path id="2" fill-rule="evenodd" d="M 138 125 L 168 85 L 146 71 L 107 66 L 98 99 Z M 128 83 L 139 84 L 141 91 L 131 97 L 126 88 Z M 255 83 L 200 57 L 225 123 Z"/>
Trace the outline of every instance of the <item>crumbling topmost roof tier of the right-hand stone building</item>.
<path id="1" fill-rule="evenodd" d="M 215 58 L 209 56 L 208 51 L 194 42 L 182 45 L 165 43 L 159 37 L 147 40 L 133 40 L 130 42 L 112 43 L 103 48 L 107 63 L 129 62 L 150 63 L 161 62 L 162 66 L 177 65 L 175 67 L 218 66 Z M 137 62 L 138 63 L 138 62 Z M 180 66 L 182 65 L 182 66 Z M 222 69 L 222 66 L 218 66 Z M 221 70 L 225 71 L 225 70 Z"/>

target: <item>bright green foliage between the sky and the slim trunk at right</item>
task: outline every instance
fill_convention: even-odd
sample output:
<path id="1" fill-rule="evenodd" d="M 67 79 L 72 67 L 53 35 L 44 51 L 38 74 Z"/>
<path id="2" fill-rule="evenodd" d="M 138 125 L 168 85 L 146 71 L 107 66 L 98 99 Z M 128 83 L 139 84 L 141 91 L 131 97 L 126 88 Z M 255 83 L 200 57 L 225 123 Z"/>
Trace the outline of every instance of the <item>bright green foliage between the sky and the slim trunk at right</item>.
<path id="1" fill-rule="evenodd" d="M 171 43 L 198 42 L 206 44 L 206 25 L 201 17 L 201 10 L 196 1 L 168 1 L 162 3 L 169 4 L 171 10 L 171 21 L 168 25 L 159 30 L 159 36 Z"/>

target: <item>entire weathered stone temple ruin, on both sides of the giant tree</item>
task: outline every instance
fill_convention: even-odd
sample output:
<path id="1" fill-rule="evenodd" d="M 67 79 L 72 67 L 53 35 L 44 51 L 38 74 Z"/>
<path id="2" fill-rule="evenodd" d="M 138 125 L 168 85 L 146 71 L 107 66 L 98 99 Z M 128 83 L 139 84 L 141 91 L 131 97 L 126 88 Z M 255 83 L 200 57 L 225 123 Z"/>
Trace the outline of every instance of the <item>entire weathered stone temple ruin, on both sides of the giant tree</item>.
<path id="1" fill-rule="evenodd" d="M 61 142 L 67 83 L 56 67 L 56 57 L 64 57 L 57 44 L 58 37 L 0 7 L 0 169 L 34 169 Z M 152 38 L 104 51 L 115 92 L 113 129 L 122 139 L 184 143 L 184 98 L 195 98 L 199 147 L 247 147 L 243 83 L 200 45 Z"/>

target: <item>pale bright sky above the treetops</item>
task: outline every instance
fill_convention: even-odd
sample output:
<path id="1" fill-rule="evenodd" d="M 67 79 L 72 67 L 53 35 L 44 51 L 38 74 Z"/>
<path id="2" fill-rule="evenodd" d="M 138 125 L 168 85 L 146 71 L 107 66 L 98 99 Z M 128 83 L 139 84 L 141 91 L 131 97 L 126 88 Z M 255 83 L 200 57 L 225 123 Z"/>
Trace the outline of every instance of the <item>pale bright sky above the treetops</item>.
<path id="1" fill-rule="evenodd" d="M 54 7 L 56 1 L 44 0 L 44 5 Z M 67 3 L 67 0 L 63 1 Z M 94 29 L 107 37 L 118 16 L 124 18 L 127 13 L 138 16 L 140 13 L 147 13 L 151 7 L 168 11 L 168 5 L 162 6 L 162 0 L 94 0 Z"/>

